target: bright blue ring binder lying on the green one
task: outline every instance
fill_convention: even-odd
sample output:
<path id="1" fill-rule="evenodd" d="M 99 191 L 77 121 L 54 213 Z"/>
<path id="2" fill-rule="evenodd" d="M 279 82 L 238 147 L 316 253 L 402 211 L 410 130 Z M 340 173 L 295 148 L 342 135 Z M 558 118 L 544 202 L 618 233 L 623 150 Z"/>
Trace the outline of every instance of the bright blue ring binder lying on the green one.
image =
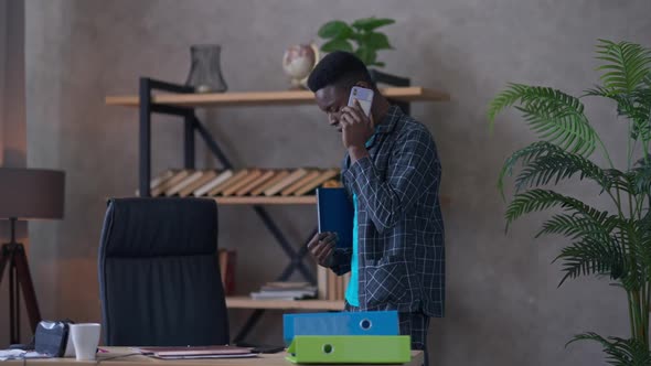
<path id="1" fill-rule="evenodd" d="M 297 335 L 398 335 L 397 311 L 301 313 L 282 315 L 282 337 Z"/>

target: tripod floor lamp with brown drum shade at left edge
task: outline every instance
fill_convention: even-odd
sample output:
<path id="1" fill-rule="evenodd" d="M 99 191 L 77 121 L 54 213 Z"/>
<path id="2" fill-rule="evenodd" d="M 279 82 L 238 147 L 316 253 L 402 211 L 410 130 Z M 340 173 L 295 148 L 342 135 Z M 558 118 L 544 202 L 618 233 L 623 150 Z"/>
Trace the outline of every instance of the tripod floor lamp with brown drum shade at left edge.
<path id="1" fill-rule="evenodd" d="M 15 222 L 62 218 L 64 181 L 65 175 L 61 171 L 0 168 L 0 219 L 9 219 L 11 227 L 11 239 L 0 250 L 0 283 L 8 267 L 11 343 L 20 342 L 21 290 L 32 332 L 41 321 L 25 250 L 22 244 L 15 241 Z"/>

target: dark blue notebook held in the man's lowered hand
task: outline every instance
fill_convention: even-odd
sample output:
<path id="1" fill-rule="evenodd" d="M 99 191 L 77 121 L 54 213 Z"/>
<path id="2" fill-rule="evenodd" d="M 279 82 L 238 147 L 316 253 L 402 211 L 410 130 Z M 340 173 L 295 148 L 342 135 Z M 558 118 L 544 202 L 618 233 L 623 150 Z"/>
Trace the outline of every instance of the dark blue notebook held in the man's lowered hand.
<path id="1" fill-rule="evenodd" d="M 353 218 L 355 209 L 345 189 L 318 189 L 317 213 L 319 233 L 333 232 L 339 234 L 337 246 L 353 246 Z"/>

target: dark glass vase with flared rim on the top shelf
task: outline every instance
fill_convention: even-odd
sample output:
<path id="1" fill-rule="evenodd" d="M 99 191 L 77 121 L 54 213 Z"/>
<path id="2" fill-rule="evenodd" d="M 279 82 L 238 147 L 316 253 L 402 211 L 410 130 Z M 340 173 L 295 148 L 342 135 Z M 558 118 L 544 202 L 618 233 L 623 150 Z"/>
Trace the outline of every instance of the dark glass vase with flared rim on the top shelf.
<path id="1" fill-rule="evenodd" d="M 185 85 L 194 87 L 196 93 L 223 93 L 228 89 L 222 68 L 220 54 L 222 46 L 217 44 L 201 44 L 190 47 L 192 66 Z"/>

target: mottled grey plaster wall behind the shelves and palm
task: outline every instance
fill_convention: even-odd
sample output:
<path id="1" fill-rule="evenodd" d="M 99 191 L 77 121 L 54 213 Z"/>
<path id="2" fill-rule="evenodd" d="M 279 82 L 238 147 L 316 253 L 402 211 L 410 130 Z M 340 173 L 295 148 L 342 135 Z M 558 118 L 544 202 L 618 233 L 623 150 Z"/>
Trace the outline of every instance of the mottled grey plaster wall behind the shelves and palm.
<path id="1" fill-rule="evenodd" d="M 96 252 L 105 198 L 137 186 L 137 111 L 105 106 L 106 95 L 136 93 L 139 76 L 183 82 L 194 43 L 222 44 L 231 90 L 284 89 L 288 45 L 309 42 L 334 18 L 391 17 L 396 50 L 381 54 L 385 69 L 452 96 L 413 108 L 437 140 L 442 194 L 452 202 L 445 208 L 448 312 L 433 321 L 433 364 L 600 363 L 594 345 L 563 345 L 588 330 L 626 335 L 625 298 L 605 281 L 556 288 L 558 266 L 549 262 L 563 241 L 532 239 L 544 216 L 504 235 L 497 174 L 533 137 L 511 114 L 490 137 L 484 110 L 511 80 L 572 93 L 590 87 L 596 39 L 651 45 L 650 10 L 648 0 L 28 1 L 29 162 L 67 172 L 66 218 L 31 229 L 32 241 L 46 243 L 32 252 L 44 315 L 99 320 Z M 588 109 L 606 142 L 621 144 L 612 106 Z M 316 107 L 211 109 L 202 117 L 237 165 L 335 165 L 342 153 Z M 157 117 L 153 126 L 153 171 L 180 166 L 181 125 Z M 203 148 L 198 157 L 199 166 L 215 165 Z M 596 196 L 583 185 L 569 192 Z M 313 207 L 270 211 L 297 246 L 313 225 Z M 247 207 L 221 208 L 220 240 L 238 249 L 243 293 L 287 263 Z M 247 314 L 232 312 L 234 331 Z M 250 341 L 280 342 L 279 313 L 257 330 Z"/>

